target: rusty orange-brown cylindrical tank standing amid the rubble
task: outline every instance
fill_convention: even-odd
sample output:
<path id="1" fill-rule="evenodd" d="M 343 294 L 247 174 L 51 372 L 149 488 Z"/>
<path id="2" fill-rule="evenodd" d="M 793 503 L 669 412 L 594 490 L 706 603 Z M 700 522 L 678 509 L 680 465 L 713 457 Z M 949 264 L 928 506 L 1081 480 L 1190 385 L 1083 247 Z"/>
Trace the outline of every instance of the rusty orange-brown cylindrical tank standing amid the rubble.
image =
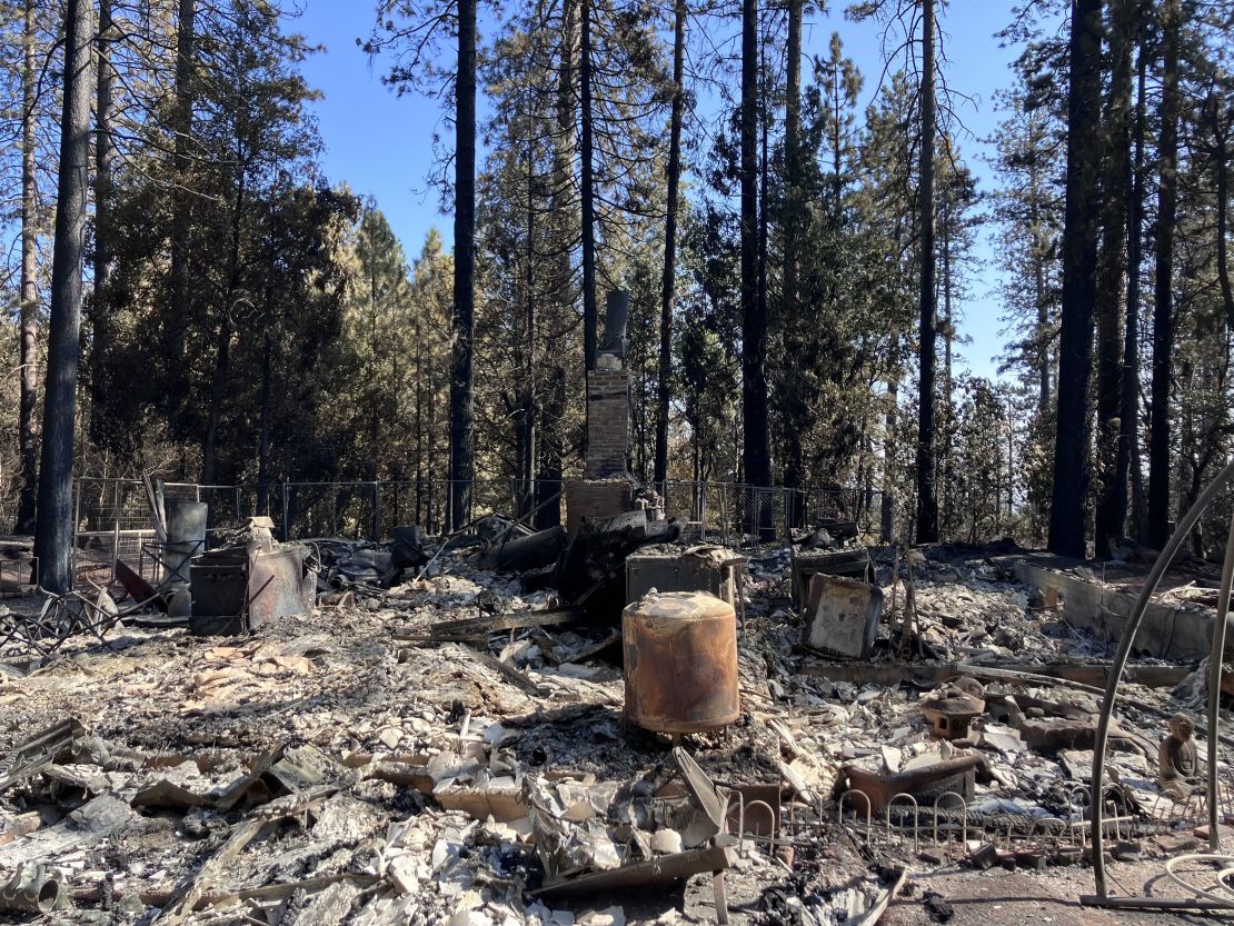
<path id="1" fill-rule="evenodd" d="M 697 591 L 653 594 L 622 611 L 626 716 L 644 730 L 697 733 L 740 714 L 737 615 Z"/>

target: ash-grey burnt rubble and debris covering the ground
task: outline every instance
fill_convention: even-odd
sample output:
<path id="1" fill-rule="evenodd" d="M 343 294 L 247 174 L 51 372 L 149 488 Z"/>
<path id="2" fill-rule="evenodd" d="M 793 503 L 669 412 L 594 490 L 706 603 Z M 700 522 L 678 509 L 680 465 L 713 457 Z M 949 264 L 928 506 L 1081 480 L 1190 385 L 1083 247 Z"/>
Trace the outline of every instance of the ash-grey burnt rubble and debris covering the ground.
<path id="1" fill-rule="evenodd" d="M 734 724 L 628 722 L 612 603 L 589 612 L 543 580 L 564 536 L 524 544 L 521 570 L 506 520 L 445 544 L 306 542 L 316 606 L 249 635 L 123 617 L 7 654 L 0 884 L 49 922 L 270 926 L 944 922 L 954 898 L 930 878 L 1004 868 L 1075 896 L 1111 643 L 1018 552 L 875 551 L 880 620 L 844 659 L 802 644 L 801 551 L 647 547 L 665 533 L 634 520 L 570 556 L 606 596 L 638 549 L 643 577 L 653 554 L 674 582 L 700 556 L 722 570 L 700 582 L 735 605 Z M 805 547 L 811 568 L 845 552 L 861 582 L 832 537 Z M 1211 611 L 1211 580 L 1167 595 Z M 1103 795 L 1114 870 L 1196 845 L 1196 752 L 1171 719 L 1202 712 L 1203 669 L 1129 669 Z M 1162 746 L 1171 728 L 1186 736 Z M 1167 761 L 1186 774 L 1162 788 Z"/>

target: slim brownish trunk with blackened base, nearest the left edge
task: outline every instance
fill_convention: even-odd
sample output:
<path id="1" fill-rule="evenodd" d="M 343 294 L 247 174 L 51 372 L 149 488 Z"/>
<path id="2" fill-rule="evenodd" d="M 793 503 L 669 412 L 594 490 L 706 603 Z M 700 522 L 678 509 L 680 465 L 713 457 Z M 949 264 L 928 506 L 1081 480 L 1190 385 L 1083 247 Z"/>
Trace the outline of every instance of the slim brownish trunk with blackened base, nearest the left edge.
<path id="1" fill-rule="evenodd" d="M 17 441 L 21 448 L 21 494 L 17 498 L 17 533 L 35 531 L 35 496 L 38 488 L 38 174 L 35 164 L 35 109 L 37 80 L 35 38 L 38 32 L 36 0 L 26 0 L 25 54 L 21 110 L 21 395 Z"/>

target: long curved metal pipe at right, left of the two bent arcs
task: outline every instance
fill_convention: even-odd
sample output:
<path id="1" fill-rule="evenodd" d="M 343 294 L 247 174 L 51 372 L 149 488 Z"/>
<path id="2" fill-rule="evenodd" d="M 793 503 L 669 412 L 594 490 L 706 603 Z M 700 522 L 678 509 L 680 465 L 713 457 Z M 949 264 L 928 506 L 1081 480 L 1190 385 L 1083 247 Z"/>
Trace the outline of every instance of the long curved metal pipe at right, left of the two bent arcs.
<path id="1" fill-rule="evenodd" d="M 1092 757 L 1091 793 L 1098 795 L 1097 800 L 1092 803 L 1092 878 L 1098 901 L 1104 900 L 1108 896 L 1106 888 L 1106 861 L 1102 853 L 1104 840 L 1101 831 L 1103 804 L 1103 788 L 1101 783 L 1106 772 L 1106 745 L 1109 741 L 1109 722 L 1114 712 L 1114 700 L 1118 698 L 1118 684 L 1123 678 L 1123 669 L 1127 668 L 1127 659 L 1132 654 L 1135 633 L 1139 631 L 1140 622 L 1144 620 L 1144 612 L 1148 610 L 1149 600 L 1153 598 L 1153 593 L 1156 591 L 1156 586 L 1161 582 L 1161 575 L 1165 574 L 1170 563 L 1174 562 L 1175 556 L 1178 553 L 1178 548 L 1187 538 L 1187 535 L 1191 533 L 1191 528 L 1196 526 L 1196 521 L 1199 520 L 1199 516 L 1212 504 L 1213 499 L 1217 498 L 1217 494 L 1225 486 L 1232 477 L 1234 477 L 1234 459 L 1228 462 L 1222 468 L 1213 482 L 1211 482 L 1203 493 L 1201 493 L 1196 504 L 1192 505 L 1187 514 L 1182 516 L 1182 520 L 1178 522 L 1174 535 L 1165 544 L 1165 549 L 1161 551 L 1161 554 L 1153 564 L 1153 569 L 1149 570 L 1148 578 L 1144 580 L 1144 586 L 1140 589 L 1139 598 L 1135 599 L 1135 606 L 1128 615 L 1127 626 L 1123 628 L 1123 637 L 1118 641 L 1118 652 L 1114 656 L 1114 662 L 1109 667 L 1109 682 L 1106 684 L 1106 698 L 1101 705 L 1101 719 L 1097 722 L 1097 738 L 1093 742 Z M 1209 774 L 1214 770 L 1215 769 L 1209 769 Z"/>

